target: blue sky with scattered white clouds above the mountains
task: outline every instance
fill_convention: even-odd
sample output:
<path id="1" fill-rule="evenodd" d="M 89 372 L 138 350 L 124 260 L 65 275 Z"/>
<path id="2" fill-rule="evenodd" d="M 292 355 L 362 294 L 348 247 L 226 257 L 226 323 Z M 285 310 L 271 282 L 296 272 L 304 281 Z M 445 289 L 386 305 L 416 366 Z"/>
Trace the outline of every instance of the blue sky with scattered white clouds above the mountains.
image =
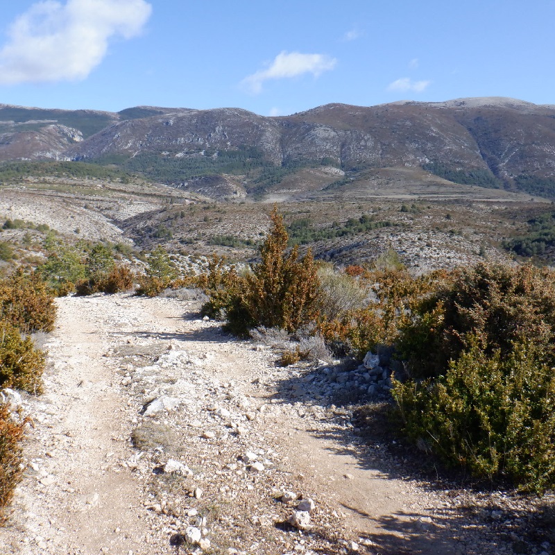
<path id="1" fill-rule="evenodd" d="M 555 104 L 555 0 L 0 0 L 0 103 Z"/>

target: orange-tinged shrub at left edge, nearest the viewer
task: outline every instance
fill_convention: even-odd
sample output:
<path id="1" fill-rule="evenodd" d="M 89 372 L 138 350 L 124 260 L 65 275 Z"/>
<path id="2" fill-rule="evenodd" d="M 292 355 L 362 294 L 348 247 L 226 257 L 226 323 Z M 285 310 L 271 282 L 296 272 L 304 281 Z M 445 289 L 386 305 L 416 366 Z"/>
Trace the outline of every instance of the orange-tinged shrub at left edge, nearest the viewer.
<path id="1" fill-rule="evenodd" d="M 8 403 L 0 403 L 0 523 L 5 520 L 3 509 L 10 503 L 23 475 L 22 447 L 27 420 L 16 422 Z"/>

